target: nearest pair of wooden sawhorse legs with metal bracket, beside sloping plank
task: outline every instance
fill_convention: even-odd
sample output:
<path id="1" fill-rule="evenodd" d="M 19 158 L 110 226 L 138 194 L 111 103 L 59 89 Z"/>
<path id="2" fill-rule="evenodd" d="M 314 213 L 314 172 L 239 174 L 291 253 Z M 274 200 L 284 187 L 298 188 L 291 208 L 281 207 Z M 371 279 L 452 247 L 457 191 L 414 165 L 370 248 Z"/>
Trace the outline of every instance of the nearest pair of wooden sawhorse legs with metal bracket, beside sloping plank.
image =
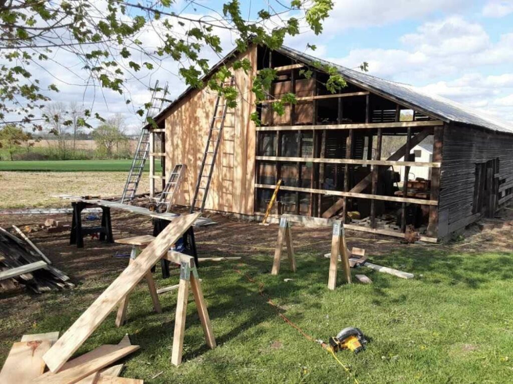
<path id="1" fill-rule="evenodd" d="M 182 353 L 184 347 L 184 334 L 185 334 L 185 319 L 187 316 L 187 301 L 189 298 L 189 282 L 198 308 L 198 315 L 201 320 L 201 326 L 205 339 L 209 348 L 215 348 L 215 338 L 212 332 L 212 325 L 210 324 L 210 317 L 208 316 L 207 305 L 203 297 L 201 289 L 200 278 L 198 270 L 196 270 L 194 259 L 188 255 L 179 255 L 175 253 L 176 257 L 182 257 L 180 261 L 180 283 L 178 287 L 178 296 L 176 299 L 176 315 L 174 320 L 174 334 L 173 334 L 173 350 L 171 353 L 171 362 L 175 366 L 182 363 Z M 192 272 L 192 273 L 191 273 Z"/>

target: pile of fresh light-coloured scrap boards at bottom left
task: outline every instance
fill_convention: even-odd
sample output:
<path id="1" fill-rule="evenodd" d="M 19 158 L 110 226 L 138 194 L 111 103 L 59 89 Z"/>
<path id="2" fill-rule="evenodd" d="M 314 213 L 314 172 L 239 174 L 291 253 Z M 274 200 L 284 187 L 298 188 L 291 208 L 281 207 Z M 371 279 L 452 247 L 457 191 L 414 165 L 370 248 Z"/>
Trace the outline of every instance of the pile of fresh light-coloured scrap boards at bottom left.
<path id="1" fill-rule="evenodd" d="M 57 341 L 58 332 L 24 335 L 13 343 L 0 371 L 2 383 L 53 384 L 143 384 L 143 380 L 119 377 L 123 364 L 115 361 L 139 349 L 130 343 L 128 335 L 116 345 L 103 345 L 68 361 L 58 372 L 46 372 L 43 355 Z"/>

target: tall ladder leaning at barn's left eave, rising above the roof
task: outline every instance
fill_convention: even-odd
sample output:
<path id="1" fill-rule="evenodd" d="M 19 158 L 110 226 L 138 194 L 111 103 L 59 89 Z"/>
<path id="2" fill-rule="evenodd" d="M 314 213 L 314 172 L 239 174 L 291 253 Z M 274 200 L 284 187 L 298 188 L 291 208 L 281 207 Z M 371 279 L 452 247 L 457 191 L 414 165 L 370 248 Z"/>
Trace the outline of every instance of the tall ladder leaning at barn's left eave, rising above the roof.
<path id="1" fill-rule="evenodd" d="M 148 122 L 148 118 L 153 118 L 159 114 L 164 106 L 164 102 L 171 101 L 166 99 L 168 88 L 167 82 L 163 88 L 159 88 L 159 80 L 155 81 L 155 87 L 151 93 L 151 106 L 146 111 L 146 122 Z M 143 128 L 141 130 L 139 142 L 137 142 L 137 148 L 133 155 L 132 166 L 128 172 L 125 188 L 123 189 L 123 195 L 121 197 L 122 203 L 131 203 L 135 197 L 150 152 L 150 135 L 152 135 L 151 129 Z"/>

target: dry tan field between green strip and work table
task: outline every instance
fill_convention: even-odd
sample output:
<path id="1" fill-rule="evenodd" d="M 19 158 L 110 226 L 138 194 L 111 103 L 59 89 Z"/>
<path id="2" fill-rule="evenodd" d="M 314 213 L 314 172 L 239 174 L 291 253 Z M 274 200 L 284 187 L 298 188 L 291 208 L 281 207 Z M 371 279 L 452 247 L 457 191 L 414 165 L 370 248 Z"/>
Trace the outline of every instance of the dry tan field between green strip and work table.
<path id="1" fill-rule="evenodd" d="M 119 196 L 125 172 L 0 172 L 0 209 L 69 207 L 69 201 L 52 195 Z M 148 175 L 143 175 L 138 193 L 149 191 Z M 15 191 L 15 193 L 14 193 Z"/>

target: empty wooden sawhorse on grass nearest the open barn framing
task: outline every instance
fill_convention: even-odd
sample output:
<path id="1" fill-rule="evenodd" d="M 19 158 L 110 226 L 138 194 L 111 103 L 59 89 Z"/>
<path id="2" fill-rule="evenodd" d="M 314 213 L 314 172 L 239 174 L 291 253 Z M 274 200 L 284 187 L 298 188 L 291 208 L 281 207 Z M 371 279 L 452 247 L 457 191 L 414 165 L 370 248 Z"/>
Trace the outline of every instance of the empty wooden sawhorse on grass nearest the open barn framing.
<path id="1" fill-rule="evenodd" d="M 344 278 L 348 284 L 351 284 L 351 270 L 346 247 L 346 238 L 344 234 L 344 224 L 341 220 L 310 218 L 297 215 L 282 215 L 280 218 L 280 228 L 278 230 L 278 240 L 274 250 L 274 260 L 272 263 L 271 274 L 277 275 L 280 272 L 280 263 L 282 257 L 283 241 L 287 245 L 287 254 L 290 263 L 290 269 L 295 272 L 295 255 L 292 245 L 291 223 L 301 223 L 307 227 L 332 227 L 331 236 L 331 256 L 329 262 L 328 289 L 335 289 L 337 286 L 337 265 L 339 254 L 341 255 Z"/>

